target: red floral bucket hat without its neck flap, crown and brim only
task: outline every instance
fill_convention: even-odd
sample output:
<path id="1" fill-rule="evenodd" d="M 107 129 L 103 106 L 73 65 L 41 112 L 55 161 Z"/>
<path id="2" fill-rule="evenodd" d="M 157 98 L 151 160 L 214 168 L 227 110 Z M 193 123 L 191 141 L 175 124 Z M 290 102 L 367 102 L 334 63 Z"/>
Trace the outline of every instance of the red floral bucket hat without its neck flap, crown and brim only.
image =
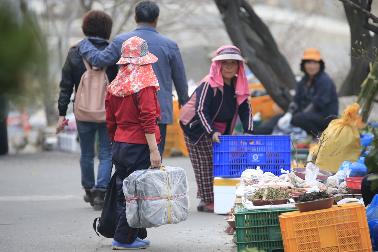
<path id="1" fill-rule="evenodd" d="M 122 57 L 117 65 L 128 63 L 145 65 L 156 61 L 158 61 L 158 58 L 148 51 L 146 40 L 135 36 L 123 42 Z"/>

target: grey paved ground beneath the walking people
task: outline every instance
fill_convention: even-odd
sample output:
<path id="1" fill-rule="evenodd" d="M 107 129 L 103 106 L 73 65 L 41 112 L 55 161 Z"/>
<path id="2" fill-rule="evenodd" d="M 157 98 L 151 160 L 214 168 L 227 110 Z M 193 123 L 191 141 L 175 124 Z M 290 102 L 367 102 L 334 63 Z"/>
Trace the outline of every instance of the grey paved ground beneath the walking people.
<path id="1" fill-rule="evenodd" d="M 65 152 L 0 156 L 0 251 L 111 251 L 112 239 L 98 237 L 93 220 L 101 215 L 82 199 L 79 155 Z M 147 229 L 151 246 L 138 251 L 236 251 L 224 233 L 225 216 L 197 212 L 197 185 L 189 158 L 163 159 L 185 169 L 189 218 Z M 232 207 L 232 206 L 230 206 Z"/>

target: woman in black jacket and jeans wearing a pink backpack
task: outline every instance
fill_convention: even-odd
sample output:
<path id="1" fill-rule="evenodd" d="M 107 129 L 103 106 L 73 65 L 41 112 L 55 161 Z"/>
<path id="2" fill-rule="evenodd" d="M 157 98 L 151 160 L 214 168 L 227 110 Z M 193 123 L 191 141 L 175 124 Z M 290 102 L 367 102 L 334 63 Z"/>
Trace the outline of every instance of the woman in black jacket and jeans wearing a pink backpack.
<path id="1" fill-rule="evenodd" d="M 91 10 L 83 18 L 82 30 L 98 50 L 104 50 L 109 44 L 106 40 L 110 37 L 112 25 L 113 20 L 108 14 Z M 68 125 L 65 116 L 74 91 L 74 114 L 81 149 L 81 184 L 85 190 L 84 201 L 90 203 L 93 210 L 102 210 L 112 167 L 112 146 L 105 121 L 105 96 L 107 85 L 109 81 L 113 81 L 117 72 L 117 65 L 108 66 L 106 69 L 90 66 L 77 49 L 72 48 L 68 51 L 59 85 L 59 121 L 56 132 L 59 133 Z M 100 162 L 97 184 L 94 171 L 96 131 Z"/>

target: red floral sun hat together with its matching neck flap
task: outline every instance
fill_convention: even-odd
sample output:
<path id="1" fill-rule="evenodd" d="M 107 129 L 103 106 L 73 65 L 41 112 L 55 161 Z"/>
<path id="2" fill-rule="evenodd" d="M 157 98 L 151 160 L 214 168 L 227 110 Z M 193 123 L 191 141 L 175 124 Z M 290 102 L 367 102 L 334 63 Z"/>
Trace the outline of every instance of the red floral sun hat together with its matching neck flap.
<path id="1" fill-rule="evenodd" d="M 160 90 L 158 79 L 151 63 L 158 60 L 149 53 L 146 40 L 131 37 L 122 44 L 122 57 L 117 64 L 122 64 L 116 78 L 110 83 L 108 91 L 114 96 L 128 96 L 146 87 L 155 86 Z"/>

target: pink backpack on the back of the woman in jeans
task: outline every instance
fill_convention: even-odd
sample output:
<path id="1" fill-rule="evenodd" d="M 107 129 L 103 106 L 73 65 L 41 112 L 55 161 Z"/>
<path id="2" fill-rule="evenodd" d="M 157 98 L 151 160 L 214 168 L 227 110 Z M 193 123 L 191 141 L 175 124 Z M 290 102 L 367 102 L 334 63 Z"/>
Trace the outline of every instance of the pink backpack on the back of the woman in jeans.
<path id="1" fill-rule="evenodd" d="M 107 67 L 102 70 L 99 67 L 90 67 L 83 59 L 87 71 L 81 76 L 79 87 L 75 92 L 74 113 L 79 121 L 104 123 L 105 98 L 109 86 L 109 79 L 105 73 Z"/>

